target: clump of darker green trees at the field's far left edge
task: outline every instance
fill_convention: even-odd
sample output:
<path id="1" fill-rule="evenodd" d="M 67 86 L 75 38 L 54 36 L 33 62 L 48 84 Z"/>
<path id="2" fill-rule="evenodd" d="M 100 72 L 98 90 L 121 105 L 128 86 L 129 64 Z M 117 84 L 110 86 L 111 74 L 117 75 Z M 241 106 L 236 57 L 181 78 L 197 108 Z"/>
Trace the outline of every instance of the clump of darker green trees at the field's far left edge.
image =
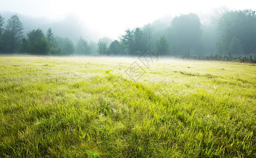
<path id="1" fill-rule="evenodd" d="M 69 38 L 55 37 L 51 28 L 46 34 L 38 28 L 23 34 L 23 25 L 17 15 L 12 15 L 3 28 L 4 18 L 0 15 L 0 53 L 29 53 L 32 55 L 70 55 L 74 53 Z"/>

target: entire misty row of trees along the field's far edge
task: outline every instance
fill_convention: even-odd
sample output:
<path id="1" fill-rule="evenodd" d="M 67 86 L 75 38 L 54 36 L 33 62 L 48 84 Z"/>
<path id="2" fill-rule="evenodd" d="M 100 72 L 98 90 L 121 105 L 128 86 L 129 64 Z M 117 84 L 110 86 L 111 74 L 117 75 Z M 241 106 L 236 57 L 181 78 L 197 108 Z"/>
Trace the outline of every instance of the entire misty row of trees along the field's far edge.
<path id="1" fill-rule="evenodd" d="M 158 55 L 255 55 L 256 13 L 251 9 L 225 11 L 205 24 L 195 13 L 172 19 L 168 27 L 153 24 L 126 29 L 118 40 L 102 38 L 97 43 L 80 37 L 76 46 L 69 38 L 55 36 L 52 29 L 44 33 L 33 29 L 26 36 L 17 15 L 12 15 L 3 27 L 0 15 L 0 53 L 30 53 L 36 55 L 139 55 L 150 48 Z"/>

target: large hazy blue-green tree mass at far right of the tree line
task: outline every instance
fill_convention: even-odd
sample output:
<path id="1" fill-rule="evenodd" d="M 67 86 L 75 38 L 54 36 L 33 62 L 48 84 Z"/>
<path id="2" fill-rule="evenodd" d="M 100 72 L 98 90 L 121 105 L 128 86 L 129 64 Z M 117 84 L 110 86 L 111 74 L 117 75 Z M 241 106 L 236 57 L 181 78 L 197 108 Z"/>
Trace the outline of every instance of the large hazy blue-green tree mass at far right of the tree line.
<path id="1" fill-rule="evenodd" d="M 219 20 L 221 37 L 217 41 L 217 52 L 220 54 L 239 54 L 234 52 L 234 43 L 241 45 L 242 54 L 256 53 L 256 13 L 251 9 L 229 11 Z"/>

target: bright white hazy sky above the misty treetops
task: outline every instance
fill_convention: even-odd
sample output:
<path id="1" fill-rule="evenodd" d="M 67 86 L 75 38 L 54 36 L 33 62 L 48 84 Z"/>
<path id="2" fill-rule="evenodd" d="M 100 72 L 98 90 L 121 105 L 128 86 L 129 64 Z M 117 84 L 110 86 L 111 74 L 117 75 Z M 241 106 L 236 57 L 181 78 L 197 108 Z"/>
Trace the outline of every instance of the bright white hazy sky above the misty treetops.
<path id="1" fill-rule="evenodd" d="M 121 1 L 121 0 L 0 0 L 0 11 L 11 11 L 33 17 L 53 20 L 69 13 L 78 15 L 88 27 L 103 36 L 116 39 L 126 28 L 143 26 L 163 16 L 181 13 L 210 12 L 212 8 L 256 10 L 256 1 Z"/>

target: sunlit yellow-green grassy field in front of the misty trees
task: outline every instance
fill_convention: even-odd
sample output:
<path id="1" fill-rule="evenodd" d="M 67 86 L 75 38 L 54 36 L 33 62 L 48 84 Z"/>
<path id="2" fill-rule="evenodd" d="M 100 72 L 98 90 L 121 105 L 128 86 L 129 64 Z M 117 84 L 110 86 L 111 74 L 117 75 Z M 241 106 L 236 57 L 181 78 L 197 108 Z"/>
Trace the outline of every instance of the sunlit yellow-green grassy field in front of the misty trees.
<path id="1" fill-rule="evenodd" d="M 256 64 L 0 56 L 0 157 L 256 157 Z"/>

